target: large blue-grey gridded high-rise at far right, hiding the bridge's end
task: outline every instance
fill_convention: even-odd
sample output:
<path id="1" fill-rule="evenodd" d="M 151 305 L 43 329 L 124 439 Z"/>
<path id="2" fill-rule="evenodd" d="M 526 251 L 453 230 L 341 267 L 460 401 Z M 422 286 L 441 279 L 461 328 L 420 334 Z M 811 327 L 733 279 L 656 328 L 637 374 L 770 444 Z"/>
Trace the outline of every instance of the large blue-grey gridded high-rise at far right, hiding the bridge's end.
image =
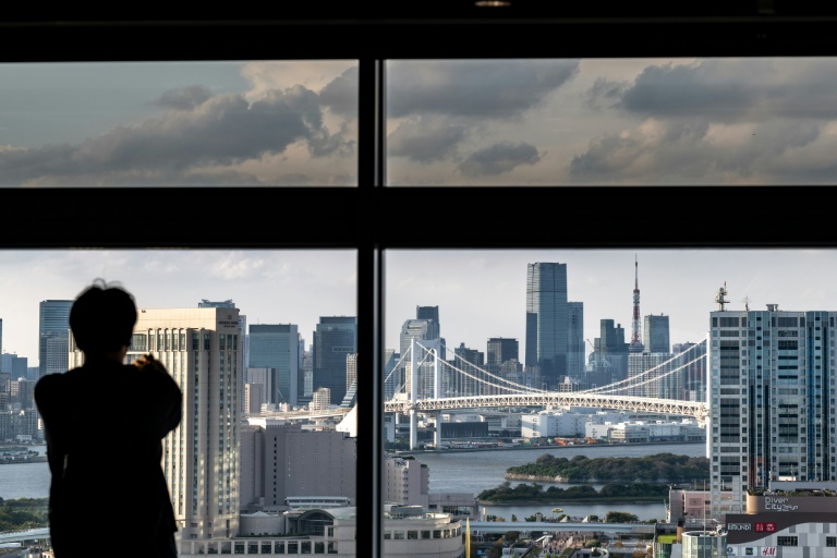
<path id="1" fill-rule="evenodd" d="M 768 304 L 709 316 L 713 515 L 745 512 L 747 490 L 771 480 L 837 480 L 837 312 Z"/>

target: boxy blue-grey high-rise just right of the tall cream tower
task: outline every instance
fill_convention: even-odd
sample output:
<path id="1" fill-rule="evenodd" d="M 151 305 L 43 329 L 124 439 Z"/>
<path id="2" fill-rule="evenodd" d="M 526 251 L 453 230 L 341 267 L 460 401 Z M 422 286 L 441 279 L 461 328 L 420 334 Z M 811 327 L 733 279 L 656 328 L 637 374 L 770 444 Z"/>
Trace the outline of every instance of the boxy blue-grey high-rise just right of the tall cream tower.
<path id="1" fill-rule="evenodd" d="M 251 324 L 250 367 L 271 369 L 270 403 L 300 404 L 304 378 L 300 369 L 300 335 L 295 324 Z M 247 378 L 250 381 L 250 378 Z"/>

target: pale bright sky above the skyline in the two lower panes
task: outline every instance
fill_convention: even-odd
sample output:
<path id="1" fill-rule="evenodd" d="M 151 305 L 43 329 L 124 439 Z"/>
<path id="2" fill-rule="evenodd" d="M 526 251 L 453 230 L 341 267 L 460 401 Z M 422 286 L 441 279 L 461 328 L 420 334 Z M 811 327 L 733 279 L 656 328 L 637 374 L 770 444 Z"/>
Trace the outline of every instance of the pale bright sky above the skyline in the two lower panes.
<path id="1" fill-rule="evenodd" d="M 837 312 L 837 250 L 399 250 L 385 254 L 386 347 L 398 349 L 416 306 L 439 306 L 450 350 L 485 352 L 489 338 L 514 338 L 522 359 L 535 262 L 567 264 L 568 299 L 583 303 L 591 342 L 602 319 L 630 341 L 636 279 L 641 315 L 669 316 L 672 343 L 705 338 L 725 283 L 727 310 Z M 121 283 L 141 308 L 232 300 L 247 324 L 296 324 L 306 347 L 320 316 L 357 312 L 353 251 L 0 251 L 3 351 L 34 366 L 40 301 L 72 300 L 98 277 Z"/>

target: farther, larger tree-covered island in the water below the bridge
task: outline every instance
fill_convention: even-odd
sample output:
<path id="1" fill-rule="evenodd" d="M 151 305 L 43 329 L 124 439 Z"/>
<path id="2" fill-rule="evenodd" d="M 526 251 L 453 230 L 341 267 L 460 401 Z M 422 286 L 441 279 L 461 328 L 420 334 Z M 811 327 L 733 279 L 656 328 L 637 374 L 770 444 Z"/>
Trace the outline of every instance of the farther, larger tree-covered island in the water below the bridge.
<path id="1" fill-rule="evenodd" d="M 534 463 L 507 469 L 506 478 L 541 483 L 701 483 L 709 480 L 709 460 L 674 453 L 596 459 L 544 453 Z"/>

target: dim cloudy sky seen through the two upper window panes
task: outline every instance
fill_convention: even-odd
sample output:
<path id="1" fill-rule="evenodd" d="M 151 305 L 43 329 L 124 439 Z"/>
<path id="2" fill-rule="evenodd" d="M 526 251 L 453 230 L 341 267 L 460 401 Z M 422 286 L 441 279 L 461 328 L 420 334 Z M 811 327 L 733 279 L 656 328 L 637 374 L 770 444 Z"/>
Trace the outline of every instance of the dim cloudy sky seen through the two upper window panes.
<path id="1" fill-rule="evenodd" d="M 389 61 L 389 185 L 835 182 L 837 59 Z M 353 60 L 0 64 L 0 186 L 356 185 Z"/>

